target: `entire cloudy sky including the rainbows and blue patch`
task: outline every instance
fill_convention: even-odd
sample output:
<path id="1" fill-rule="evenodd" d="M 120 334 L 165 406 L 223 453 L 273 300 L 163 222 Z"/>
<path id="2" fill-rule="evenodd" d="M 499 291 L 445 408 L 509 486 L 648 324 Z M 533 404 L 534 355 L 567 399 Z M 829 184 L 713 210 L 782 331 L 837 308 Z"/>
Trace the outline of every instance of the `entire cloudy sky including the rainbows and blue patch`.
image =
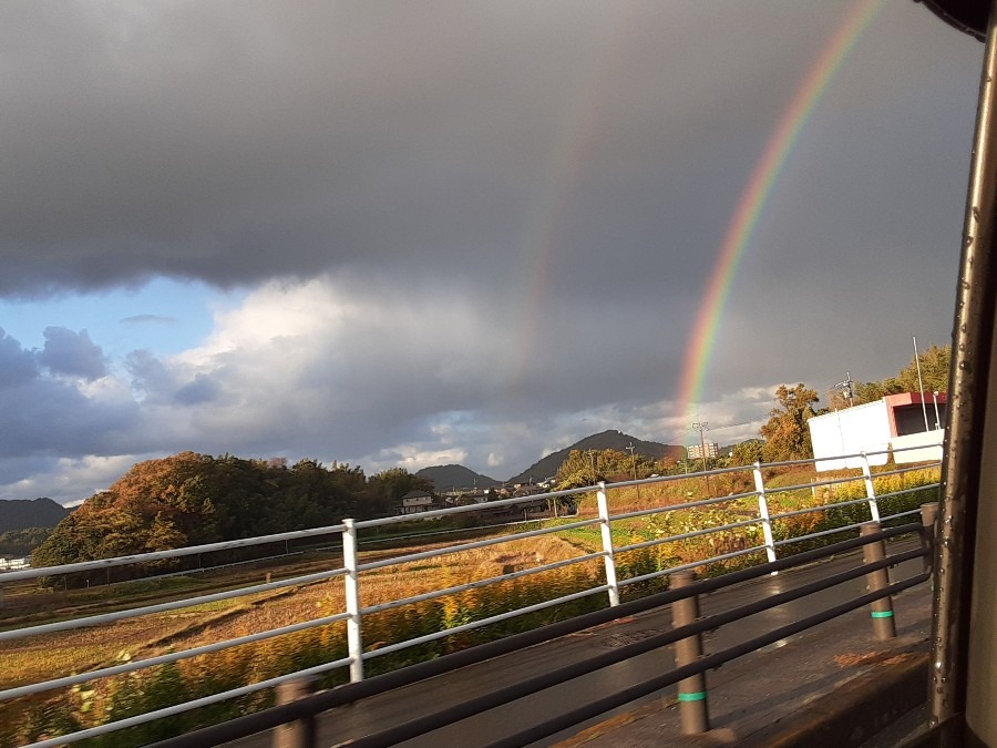
<path id="1" fill-rule="evenodd" d="M 908 0 L 0 4 L 0 499 L 500 480 L 950 339 L 983 44 Z"/>

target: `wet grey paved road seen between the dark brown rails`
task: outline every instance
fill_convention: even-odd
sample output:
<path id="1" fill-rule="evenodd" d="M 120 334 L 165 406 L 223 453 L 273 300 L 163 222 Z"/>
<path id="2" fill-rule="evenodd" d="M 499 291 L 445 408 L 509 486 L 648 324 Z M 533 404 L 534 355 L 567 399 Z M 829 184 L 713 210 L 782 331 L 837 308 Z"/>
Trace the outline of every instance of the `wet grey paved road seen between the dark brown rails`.
<path id="1" fill-rule="evenodd" d="M 905 545 L 904 547 L 913 547 L 913 545 Z M 861 555 L 852 554 L 804 568 L 783 572 L 778 576 L 763 577 L 737 587 L 718 591 L 702 601 L 701 612 L 703 615 L 709 615 L 763 596 L 778 594 L 806 582 L 823 578 L 844 568 L 853 567 L 860 561 Z M 908 562 L 902 567 L 893 570 L 891 577 L 893 581 L 906 578 L 918 573 L 921 564 L 919 560 Z M 925 587 L 926 585 L 922 585 L 922 591 Z M 862 578 L 837 585 L 809 598 L 723 626 L 707 636 L 705 648 L 707 653 L 718 652 L 767 633 L 778 626 L 798 621 L 811 613 L 853 600 L 865 592 L 865 583 Z M 921 594 L 924 596 L 923 592 Z M 825 629 L 825 627 L 831 626 L 833 627 Z M 356 739 L 386 727 L 402 724 L 415 716 L 439 710 L 448 704 L 464 701 L 496 688 L 515 684 L 525 677 L 586 659 L 595 654 L 605 652 L 606 648 L 619 647 L 638 638 L 666 632 L 670 627 L 670 609 L 659 608 L 596 629 L 566 636 L 523 652 L 497 657 L 487 663 L 463 668 L 423 684 L 409 686 L 348 707 L 333 709 L 321 717 L 319 742 L 320 745 L 338 745 Z M 828 631 L 834 638 L 832 641 L 822 638 L 822 631 Z M 871 639 L 870 632 L 868 614 L 860 611 L 856 614 L 851 614 L 849 621 L 840 619 L 833 622 L 833 624 L 824 624 L 808 634 L 775 643 L 769 647 L 770 657 L 774 656 L 774 650 L 777 649 L 781 650 L 783 647 L 791 649 L 790 645 L 800 637 L 809 636 L 810 643 L 808 647 L 820 649 L 826 645 L 834 645 L 836 642 L 844 642 L 849 636 L 857 637 L 862 641 Z M 787 653 L 780 652 L 780 654 L 784 660 Z M 758 668 L 763 669 L 765 668 L 767 653 L 754 653 L 738 660 L 738 663 L 741 663 L 741 670 L 743 670 L 743 660 L 748 659 L 751 659 L 753 663 L 753 665 L 748 665 L 748 672 L 751 672 L 752 668 L 756 670 Z M 439 746 L 474 748 L 475 746 L 484 746 L 503 736 L 515 734 L 531 724 L 541 723 L 552 715 L 576 708 L 603 695 L 618 691 L 621 688 L 659 675 L 664 670 L 670 669 L 672 665 L 674 659 L 670 647 L 657 649 L 546 689 L 532 697 L 479 714 L 475 717 L 436 730 L 431 735 L 421 736 L 400 745 L 408 748 L 438 748 Z M 711 689 L 715 687 L 715 684 L 722 683 L 727 673 L 733 673 L 734 668 L 731 665 L 724 665 L 722 668 L 708 675 Z M 780 667 L 787 668 L 787 665 L 783 664 Z M 806 667 L 810 668 L 813 665 L 808 665 Z M 792 668 L 789 667 L 787 669 Z M 805 673 L 798 675 L 802 675 L 804 678 L 809 677 Z M 666 690 L 668 696 L 674 697 L 675 687 Z M 744 698 L 750 701 L 756 696 L 758 695 L 751 693 L 743 694 L 739 704 L 744 701 Z M 606 720 L 609 720 L 611 724 L 614 715 L 633 714 L 635 710 L 639 711 L 641 708 L 646 709 L 654 705 L 660 707 L 661 703 L 662 693 L 648 696 L 637 701 L 631 701 L 626 707 L 613 713 L 602 715 L 597 719 L 589 720 L 589 723 L 577 725 L 569 730 L 546 738 L 535 745 L 551 746 L 562 740 L 571 740 L 572 736 L 577 735 L 586 727 L 592 728 L 595 725 L 606 723 Z M 713 708 L 711 707 L 711 713 L 712 710 Z M 260 735 L 232 745 L 238 746 L 238 748 L 263 748 L 271 744 L 269 737 Z M 614 744 L 610 741 L 606 745 L 623 745 L 623 742 Z M 637 741 L 627 745 L 651 744 Z M 668 741 L 659 745 L 668 745 Z"/>

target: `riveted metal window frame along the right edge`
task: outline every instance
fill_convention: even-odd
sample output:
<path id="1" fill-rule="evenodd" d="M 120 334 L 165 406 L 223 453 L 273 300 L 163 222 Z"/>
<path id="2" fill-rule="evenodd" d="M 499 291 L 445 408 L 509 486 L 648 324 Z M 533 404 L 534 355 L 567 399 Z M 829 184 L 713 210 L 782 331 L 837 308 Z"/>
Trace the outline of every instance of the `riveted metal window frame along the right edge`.
<path id="1" fill-rule="evenodd" d="M 993 370 L 993 326 L 997 299 L 997 0 L 991 0 L 987 42 L 980 72 L 976 133 L 963 224 L 963 253 L 956 288 L 952 340 L 952 373 L 946 414 L 946 449 L 942 463 L 942 501 L 934 567 L 932 619 L 931 723 L 938 725 L 966 713 L 969 669 L 970 611 L 977 520 L 984 470 L 989 375 Z M 993 532 L 983 527 L 981 532 Z M 985 565 L 980 568 L 986 568 Z M 993 591 L 985 593 L 993 596 Z M 980 624 L 994 638 L 993 616 Z M 980 632 L 983 634 L 983 632 Z M 983 658 L 981 667 L 990 660 Z M 977 689 L 985 740 L 997 734 L 994 691 Z M 989 698 L 988 698 L 989 697 Z M 987 735 L 989 734 L 989 735 Z"/>

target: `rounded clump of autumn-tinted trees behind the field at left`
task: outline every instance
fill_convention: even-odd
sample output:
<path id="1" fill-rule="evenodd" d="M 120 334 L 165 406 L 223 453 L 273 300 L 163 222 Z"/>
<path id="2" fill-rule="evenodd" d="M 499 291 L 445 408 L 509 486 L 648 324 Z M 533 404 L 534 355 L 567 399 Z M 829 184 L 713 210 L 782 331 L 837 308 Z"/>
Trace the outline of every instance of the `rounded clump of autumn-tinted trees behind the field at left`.
<path id="1" fill-rule="evenodd" d="M 33 554 L 37 565 L 109 559 L 254 537 L 390 514 L 428 482 L 400 468 L 360 468 L 182 452 L 134 465 L 66 516 Z"/>

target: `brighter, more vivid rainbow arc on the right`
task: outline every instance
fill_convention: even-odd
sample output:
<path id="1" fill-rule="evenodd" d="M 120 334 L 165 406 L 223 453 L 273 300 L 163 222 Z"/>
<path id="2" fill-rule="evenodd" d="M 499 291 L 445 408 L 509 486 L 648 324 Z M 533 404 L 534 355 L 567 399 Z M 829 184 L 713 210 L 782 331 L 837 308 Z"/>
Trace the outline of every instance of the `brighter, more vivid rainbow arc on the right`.
<path id="1" fill-rule="evenodd" d="M 693 414 L 709 370 L 717 331 L 730 289 L 744 250 L 751 243 L 772 188 L 785 166 L 793 146 L 824 92 L 841 69 L 855 42 L 868 27 L 880 8 L 880 0 L 859 0 L 845 14 L 837 31 L 811 65 L 793 99 L 779 119 L 761 158 L 741 193 L 733 217 L 723 235 L 717 263 L 707 283 L 706 294 L 689 337 L 679 379 L 679 412 Z"/>

